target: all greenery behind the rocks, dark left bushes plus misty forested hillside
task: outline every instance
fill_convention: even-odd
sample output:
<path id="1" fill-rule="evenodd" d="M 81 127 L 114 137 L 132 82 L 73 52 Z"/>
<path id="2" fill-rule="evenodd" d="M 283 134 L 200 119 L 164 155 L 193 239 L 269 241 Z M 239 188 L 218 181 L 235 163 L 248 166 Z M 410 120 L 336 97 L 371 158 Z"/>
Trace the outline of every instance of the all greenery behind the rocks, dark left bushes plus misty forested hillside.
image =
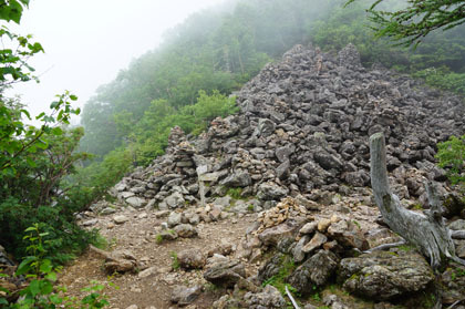
<path id="1" fill-rule="evenodd" d="M 409 51 L 373 39 L 365 19 L 370 1 L 348 8 L 344 2 L 230 1 L 193 14 L 167 32 L 162 45 L 100 86 L 84 106 L 84 132 L 46 125 L 46 132 L 31 131 L 28 138 L 44 134 L 42 147 L 18 155 L 11 150 L 17 169 L 1 175 L 0 231 L 7 249 L 23 256 L 22 230 L 37 222 L 51 239 L 62 239 L 52 251 L 82 248 L 89 235 L 79 233 L 74 213 L 105 195 L 133 166 L 163 154 L 173 126 L 196 135 L 216 116 L 235 113 L 231 94 L 297 43 L 338 51 L 352 42 L 364 65 L 379 63 L 465 94 L 464 27 L 434 32 Z M 402 1 L 383 6 L 400 8 Z M 9 121 L 20 119 L 20 102 L 4 106 Z"/>

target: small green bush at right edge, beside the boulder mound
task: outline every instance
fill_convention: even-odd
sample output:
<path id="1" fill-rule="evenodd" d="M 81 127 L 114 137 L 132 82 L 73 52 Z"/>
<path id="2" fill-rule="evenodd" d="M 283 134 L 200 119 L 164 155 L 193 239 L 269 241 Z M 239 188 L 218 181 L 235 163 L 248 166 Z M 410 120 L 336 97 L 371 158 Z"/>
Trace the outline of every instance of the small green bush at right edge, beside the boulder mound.
<path id="1" fill-rule="evenodd" d="M 436 158 L 440 167 L 447 169 L 452 184 L 465 184 L 465 135 L 438 143 Z"/>

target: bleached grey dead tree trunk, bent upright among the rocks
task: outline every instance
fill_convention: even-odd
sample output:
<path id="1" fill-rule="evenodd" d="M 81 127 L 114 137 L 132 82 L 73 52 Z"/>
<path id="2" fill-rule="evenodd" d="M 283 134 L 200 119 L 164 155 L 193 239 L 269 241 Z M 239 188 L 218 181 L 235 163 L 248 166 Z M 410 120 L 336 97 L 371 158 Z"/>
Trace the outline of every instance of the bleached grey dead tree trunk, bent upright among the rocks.
<path id="1" fill-rule="evenodd" d="M 404 208 L 399 197 L 389 187 L 384 135 L 375 133 L 370 137 L 371 186 L 381 215 L 389 227 L 406 241 L 417 247 L 430 258 L 436 269 L 445 257 L 462 265 L 465 261 L 455 255 L 451 230 L 445 226 L 441 202 L 432 184 L 426 184 L 431 209 L 415 213 Z"/>

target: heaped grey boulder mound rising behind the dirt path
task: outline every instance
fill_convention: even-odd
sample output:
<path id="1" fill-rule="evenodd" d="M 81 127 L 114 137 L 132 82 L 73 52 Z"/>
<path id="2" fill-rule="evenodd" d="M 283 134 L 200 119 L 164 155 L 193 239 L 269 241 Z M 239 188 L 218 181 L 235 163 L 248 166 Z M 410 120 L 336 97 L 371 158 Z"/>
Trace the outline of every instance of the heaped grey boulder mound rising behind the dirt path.
<path id="1" fill-rule="evenodd" d="M 289 195 L 348 194 L 370 184 L 368 138 L 383 131 L 394 190 L 426 206 L 422 179 L 445 181 L 436 143 L 465 132 L 462 99 L 368 70 L 351 44 L 337 56 L 296 45 L 236 95 L 238 114 L 194 140 L 175 127 L 166 154 L 123 178 L 115 196 L 134 207 L 184 207 L 200 199 L 198 172 L 207 197 L 239 188 L 236 195 L 258 197 L 256 210 Z"/>

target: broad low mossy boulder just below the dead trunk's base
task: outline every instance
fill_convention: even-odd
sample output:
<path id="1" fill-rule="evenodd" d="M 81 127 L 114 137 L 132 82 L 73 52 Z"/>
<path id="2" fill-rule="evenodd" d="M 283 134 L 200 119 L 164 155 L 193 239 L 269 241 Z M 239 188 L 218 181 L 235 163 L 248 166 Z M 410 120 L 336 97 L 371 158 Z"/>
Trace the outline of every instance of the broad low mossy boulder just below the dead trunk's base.
<path id="1" fill-rule="evenodd" d="M 414 250 L 342 259 L 339 277 L 348 291 L 381 300 L 421 291 L 434 280 L 430 265 Z"/>

